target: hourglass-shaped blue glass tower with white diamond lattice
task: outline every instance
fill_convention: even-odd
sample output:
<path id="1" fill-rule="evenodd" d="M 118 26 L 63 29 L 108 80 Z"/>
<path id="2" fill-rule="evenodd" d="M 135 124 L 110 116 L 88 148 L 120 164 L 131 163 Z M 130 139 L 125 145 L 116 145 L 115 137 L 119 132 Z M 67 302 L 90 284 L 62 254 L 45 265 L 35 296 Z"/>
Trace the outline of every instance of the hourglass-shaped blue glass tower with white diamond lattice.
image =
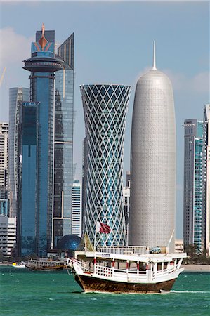
<path id="1" fill-rule="evenodd" d="M 90 84 L 80 88 L 86 125 L 84 232 L 94 244 L 96 220 L 100 220 L 111 232 L 98 233 L 96 246 L 124 245 L 122 169 L 131 86 Z"/>

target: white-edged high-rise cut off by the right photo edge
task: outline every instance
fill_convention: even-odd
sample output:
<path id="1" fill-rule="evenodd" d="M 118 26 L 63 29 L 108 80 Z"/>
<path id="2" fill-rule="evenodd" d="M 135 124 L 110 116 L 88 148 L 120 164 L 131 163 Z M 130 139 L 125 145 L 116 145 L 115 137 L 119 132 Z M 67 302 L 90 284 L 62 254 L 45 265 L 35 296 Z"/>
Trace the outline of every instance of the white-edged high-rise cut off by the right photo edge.
<path id="1" fill-rule="evenodd" d="M 210 104 L 204 106 L 202 158 L 202 248 L 210 256 Z"/>

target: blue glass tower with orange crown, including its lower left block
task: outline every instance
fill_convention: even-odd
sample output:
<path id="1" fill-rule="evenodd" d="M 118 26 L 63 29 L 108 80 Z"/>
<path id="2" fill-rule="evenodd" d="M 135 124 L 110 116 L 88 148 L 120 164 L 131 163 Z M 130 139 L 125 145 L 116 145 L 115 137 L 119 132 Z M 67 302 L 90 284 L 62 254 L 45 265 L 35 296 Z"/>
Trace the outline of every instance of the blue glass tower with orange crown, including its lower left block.
<path id="1" fill-rule="evenodd" d="M 22 178 L 18 235 L 21 256 L 45 256 L 51 246 L 52 232 L 55 72 L 63 68 L 63 61 L 55 58 L 55 43 L 46 40 L 44 25 L 41 38 L 32 43 L 31 53 L 23 67 L 31 72 L 31 102 L 21 105 Z"/>

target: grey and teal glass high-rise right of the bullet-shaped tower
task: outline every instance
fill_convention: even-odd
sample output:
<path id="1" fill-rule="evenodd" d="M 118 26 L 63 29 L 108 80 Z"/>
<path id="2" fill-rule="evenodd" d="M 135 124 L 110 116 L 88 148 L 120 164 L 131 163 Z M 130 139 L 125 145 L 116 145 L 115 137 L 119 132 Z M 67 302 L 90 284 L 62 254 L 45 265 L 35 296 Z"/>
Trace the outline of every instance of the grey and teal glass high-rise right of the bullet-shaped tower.
<path id="1" fill-rule="evenodd" d="M 184 122 L 184 247 L 197 244 L 202 249 L 202 164 L 203 122 L 186 119 Z"/>

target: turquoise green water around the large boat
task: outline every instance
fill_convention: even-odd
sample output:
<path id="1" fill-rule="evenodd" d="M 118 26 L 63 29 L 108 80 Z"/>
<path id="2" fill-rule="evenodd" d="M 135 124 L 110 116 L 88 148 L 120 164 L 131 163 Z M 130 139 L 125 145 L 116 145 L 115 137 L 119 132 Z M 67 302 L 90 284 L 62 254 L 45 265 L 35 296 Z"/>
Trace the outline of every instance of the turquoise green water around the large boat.
<path id="1" fill-rule="evenodd" d="M 170 294 L 84 294 L 65 270 L 1 267 L 1 315 L 210 315 L 210 273 L 183 272 Z"/>

